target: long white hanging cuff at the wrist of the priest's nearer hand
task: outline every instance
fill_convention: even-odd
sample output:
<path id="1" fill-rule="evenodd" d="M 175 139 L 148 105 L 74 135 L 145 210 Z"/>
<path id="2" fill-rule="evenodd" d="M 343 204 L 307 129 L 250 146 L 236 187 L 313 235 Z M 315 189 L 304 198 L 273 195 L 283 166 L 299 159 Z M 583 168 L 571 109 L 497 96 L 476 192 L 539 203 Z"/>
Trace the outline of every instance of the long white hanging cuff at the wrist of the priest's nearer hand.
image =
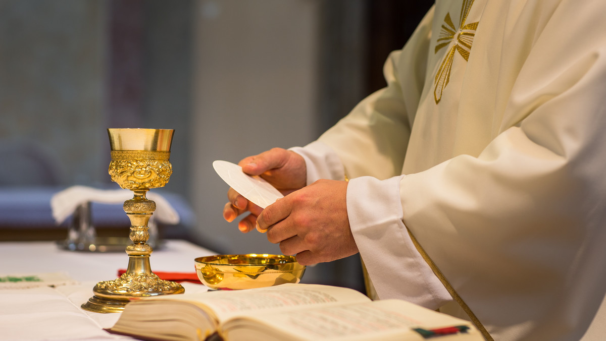
<path id="1" fill-rule="evenodd" d="M 452 298 L 416 250 L 402 222 L 403 177 L 350 180 L 347 214 L 351 232 L 380 299 L 404 299 L 437 309 Z"/>

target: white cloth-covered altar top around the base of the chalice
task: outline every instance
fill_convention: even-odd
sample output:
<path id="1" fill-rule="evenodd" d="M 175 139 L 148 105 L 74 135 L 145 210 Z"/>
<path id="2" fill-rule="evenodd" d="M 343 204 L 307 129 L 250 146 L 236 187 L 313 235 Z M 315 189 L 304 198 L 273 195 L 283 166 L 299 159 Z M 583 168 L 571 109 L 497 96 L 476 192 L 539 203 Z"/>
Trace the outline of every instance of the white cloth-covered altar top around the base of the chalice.
<path id="1" fill-rule="evenodd" d="M 161 273 L 195 273 L 196 257 L 214 254 L 185 240 L 165 240 L 151 254 L 151 270 Z M 0 277 L 62 274 L 72 281 L 55 287 L 6 288 L 0 283 L 0 340 L 131 340 L 104 331 L 120 313 L 92 313 L 82 303 L 93 286 L 118 277 L 128 255 L 67 251 L 55 242 L 0 242 Z M 182 282 L 185 292 L 206 291 L 201 283 Z"/>

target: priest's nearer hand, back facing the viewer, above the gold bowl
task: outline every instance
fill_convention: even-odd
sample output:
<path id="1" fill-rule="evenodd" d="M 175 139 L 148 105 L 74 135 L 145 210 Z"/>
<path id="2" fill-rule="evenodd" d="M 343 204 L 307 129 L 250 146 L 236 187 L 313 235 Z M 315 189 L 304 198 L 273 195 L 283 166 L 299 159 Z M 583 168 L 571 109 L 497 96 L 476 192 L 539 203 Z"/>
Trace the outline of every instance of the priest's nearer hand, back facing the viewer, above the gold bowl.
<path id="1" fill-rule="evenodd" d="M 257 228 L 302 265 L 330 262 L 358 253 L 347 217 L 347 182 L 318 180 L 269 205 Z"/>

